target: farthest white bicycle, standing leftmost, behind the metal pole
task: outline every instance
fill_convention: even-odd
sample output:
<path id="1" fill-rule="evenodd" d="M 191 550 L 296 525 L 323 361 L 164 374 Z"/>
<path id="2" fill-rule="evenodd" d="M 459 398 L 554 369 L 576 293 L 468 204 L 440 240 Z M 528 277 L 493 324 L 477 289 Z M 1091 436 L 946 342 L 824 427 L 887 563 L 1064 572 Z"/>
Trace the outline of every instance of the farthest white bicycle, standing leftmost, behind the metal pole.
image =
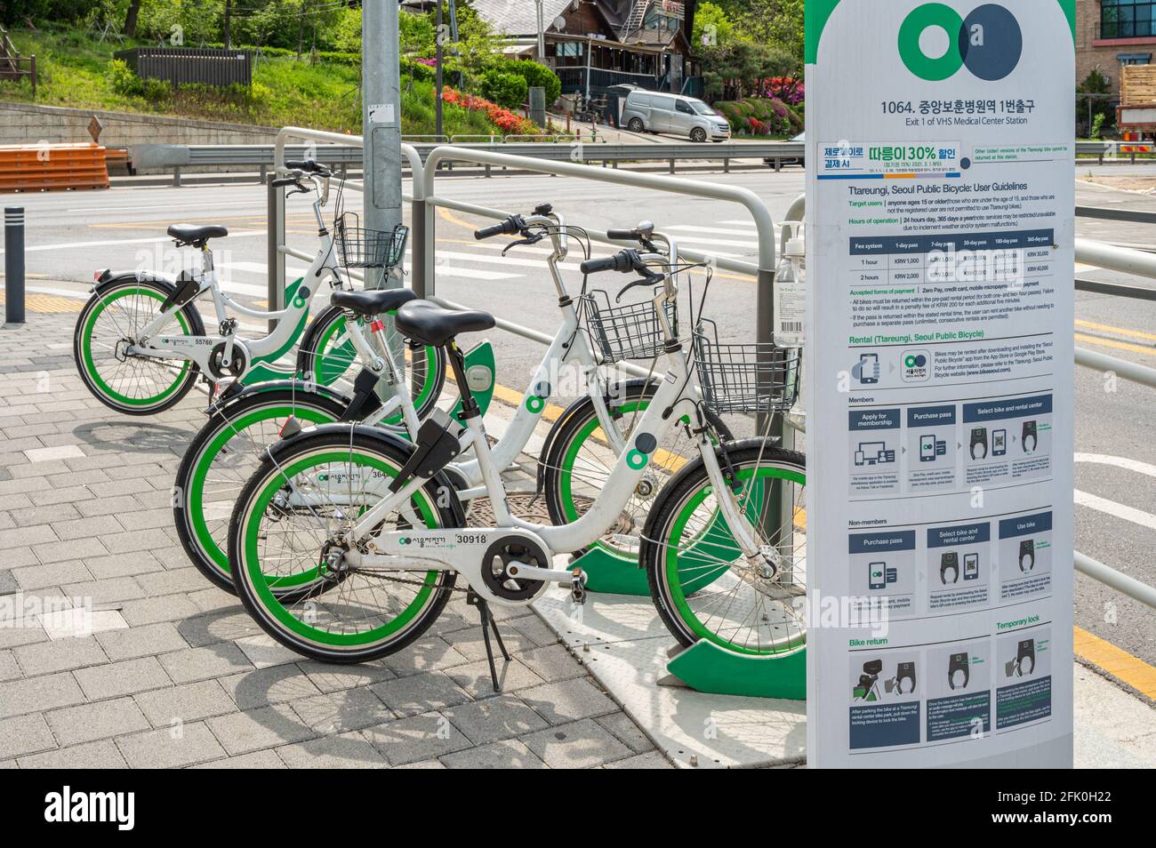
<path id="1" fill-rule="evenodd" d="M 216 387 L 223 382 L 252 384 L 291 377 L 277 360 L 301 343 L 303 367 L 323 382 L 333 382 L 349 362 L 334 354 L 334 340 L 344 313 L 340 306 L 326 310 L 306 330 L 310 305 L 321 284 L 342 290 L 341 265 L 392 268 L 405 251 L 407 229 L 388 233 L 365 231 L 336 221 L 331 233 L 323 217 L 328 202 L 328 169 L 312 159 L 287 163 L 294 171 L 273 180 L 291 186 L 294 193 L 317 192 L 313 215 L 320 245 L 309 270 L 286 289 L 283 310 L 254 310 L 230 298 L 221 288 L 209 240 L 224 238 L 220 224 L 173 224 L 168 232 L 178 247 L 201 252 L 200 271 L 185 270 L 172 277 L 154 271 L 111 271 L 95 275 L 91 298 L 76 321 L 73 352 L 81 379 L 106 407 L 126 415 L 154 415 L 178 403 L 193 387 L 198 374 Z M 205 293 L 213 299 L 216 333 L 207 333 L 194 302 Z M 377 305 L 391 311 L 401 293 L 392 291 Z M 264 337 L 238 334 L 238 313 L 276 321 Z"/>

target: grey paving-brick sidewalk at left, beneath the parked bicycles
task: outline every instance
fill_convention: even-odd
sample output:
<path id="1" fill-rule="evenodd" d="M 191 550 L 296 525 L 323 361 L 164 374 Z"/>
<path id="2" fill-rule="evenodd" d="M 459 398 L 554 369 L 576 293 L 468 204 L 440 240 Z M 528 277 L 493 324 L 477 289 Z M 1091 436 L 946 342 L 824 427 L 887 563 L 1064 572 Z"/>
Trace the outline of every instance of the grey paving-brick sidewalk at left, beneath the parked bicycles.
<path id="1" fill-rule="evenodd" d="M 74 322 L 0 329 L 0 767 L 669 767 L 529 610 L 501 622 L 499 697 L 464 598 L 377 663 L 276 646 L 172 526 L 203 395 L 108 410 L 76 374 Z M 45 628 L 62 598 L 91 601 L 91 634 Z"/>

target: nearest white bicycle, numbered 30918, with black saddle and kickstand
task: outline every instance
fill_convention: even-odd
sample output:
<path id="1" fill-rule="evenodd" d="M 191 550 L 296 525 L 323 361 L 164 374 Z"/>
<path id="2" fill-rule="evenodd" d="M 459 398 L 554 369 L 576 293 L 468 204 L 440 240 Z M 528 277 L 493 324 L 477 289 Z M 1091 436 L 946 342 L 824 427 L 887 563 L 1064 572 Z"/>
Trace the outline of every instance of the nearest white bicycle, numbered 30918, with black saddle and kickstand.
<path id="1" fill-rule="evenodd" d="M 274 639 L 329 662 L 392 654 L 433 623 L 459 574 L 487 634 L 490 604 L 529 604 L 550 583 L 569 586 L 575 600 L 583 600 L 581 570 L 555 567 L 554 557 L 603 536 L 633 497 L 658 445 L 677 426 L 692 437 L 697 456 L 666 481 L 638 551 L 662 620 L 684 645 L 709 639 L 768 655 L 803 642 L 805 458 L 766 436 L 721 440 L 712 423 L 719 412 L 770 418 L 788 410 L 798 397 L 800 351 L 720 343 L 701 318 L 707 275 L 699 319 L 691 314 L 688 358 L 668 313 L 677 298 L 676 276 L 687 270 L 675 258 L 628 250 L 587 260 L 581 270 L 637 273 L 640 278 L 627 288 L 657 287 L 645 315 L 628 310 L 616 325 L 606 308 L 599 318 L 620 343 L 666 359 L 666 372 L 585 513 L 546 526 L 509 508 L 455 342 L 460 333 L 494 327 L 492 315 L 406 304 L 397 314 L 398 332 L 445 350 L 461 414 L 435 411 L 415 444 L 378 427 L 339 423 L 306 427 L 266 452 L 234 507 L 229 559 L 237 594 Z M 593 296 L 584 297 L 596 307 Z M 592 315 L 591 323 L 595 320 Z M 467 451 L 474 452 L 495 527 L 465 526 L 446 468 Z M 302 588 L 284 590 L 292 587 Z"/>

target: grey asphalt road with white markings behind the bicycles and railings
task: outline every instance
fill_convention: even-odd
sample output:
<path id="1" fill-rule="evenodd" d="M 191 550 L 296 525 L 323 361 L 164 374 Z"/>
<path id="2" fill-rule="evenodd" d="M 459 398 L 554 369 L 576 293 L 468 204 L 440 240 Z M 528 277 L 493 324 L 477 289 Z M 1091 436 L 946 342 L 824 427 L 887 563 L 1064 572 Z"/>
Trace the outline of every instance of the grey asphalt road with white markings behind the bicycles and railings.
<path id="1" fill-rule="evenodd" d="M 1105 172 L 1122 173 L 1122 166 Z M 1099 171 L 1099 169 L 1095 169 Z M 1087 170 L 1077 169 L 1077 176 Z M 759 194 L 776 220 L 803 191 L 799 169 L 783 173 L 696 174 L 695 179 L 747 186 Z M 549 201 L 571 224 L 599 229 L 654 221 L 687 247 L 754 255 L 754 226 L 747 213 L 726 202 L 691 200 L 659 192 L 631 191 L 569 178 L 495 176 L 452 177 L 439 193 L 470 203 L 529 211 Z M 356 206 L 360 198 L 348 196 Z M 230 236 L 216 245 L 218 268 L 231 292 L 260 303 L 266 291 L 265 188 L 257 185 L 202 187 L 124 187 L 108 192 L 6 198 L 28 214 L 30 291 L 83 297 L 92 271 L 102 267 L 153 267 L 172 263 L 175 252 L 164 230 L 169 223 L 221 222 Z M 1156 210 L 1156 199 L 1087 183 L 1077 184 L 1077 202 Z M 316 235 L 307 203 L 289 207 L 291 246 L 312 253 Z M 472 229 L 483 223 L 467 215 L 443 213 L 437 221 L 437 293 L 462 304 L 551 333 L 558 315 L 544 273 L 542 250 L 519 250 L 501 258 L 501 243 L 476 243 Z M 1081 221 L 1080 235 L 1103 240 L 1156 245 L 1151 228 Z M 595 253 L 606 248 L 595 247 Z M 290 271 L 304 262 L 290 260 Z M 575 270 L 565 271 L 573 289 Z M 1080 268 L 1079 275 L 1128 280 L 1118 274 Z M 605 280 L 613 284 L 617 278 Z M 622 281 L 624 282 L 624 280 Z M 1128 280 L 1135 284 L 1144 281 Z M 1156 283 L 1148 282 L 1150 285 Z M 701 290 L 699 290 L 701 291 Z M 697 297 L 697 295 L 696 295 Z M 754 283 L 742 275 L 719 273 L 711 284 L 705 313 L 724 337 L 748 340 L 754 329 Z M 1077 344 L 1156 366 L 1156 304 L 1107 296 L 1077 295 Z M 542 349 L 505 333 L 490 334 L 497 349 L 499 382 L 519 392 Z M 1104 375 L 1076 372 L 1076 544 L 1084 553 L 1156 585 L 1156 392 Z M 1084 578 L 1076 588 L 1076 623 L 1125 650 L 1156 663 L 1156 613 Z"/>

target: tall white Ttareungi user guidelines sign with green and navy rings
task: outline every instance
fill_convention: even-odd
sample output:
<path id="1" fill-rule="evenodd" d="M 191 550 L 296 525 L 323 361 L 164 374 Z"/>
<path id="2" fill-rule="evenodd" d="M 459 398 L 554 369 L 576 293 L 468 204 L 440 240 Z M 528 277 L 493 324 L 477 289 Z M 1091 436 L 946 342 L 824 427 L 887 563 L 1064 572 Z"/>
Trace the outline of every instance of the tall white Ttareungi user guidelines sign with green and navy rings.
<path id="1" fill-rule="evenodd" d="M 1075 6 L 808 0 L 813 767 L 1073 765 Z"/>

